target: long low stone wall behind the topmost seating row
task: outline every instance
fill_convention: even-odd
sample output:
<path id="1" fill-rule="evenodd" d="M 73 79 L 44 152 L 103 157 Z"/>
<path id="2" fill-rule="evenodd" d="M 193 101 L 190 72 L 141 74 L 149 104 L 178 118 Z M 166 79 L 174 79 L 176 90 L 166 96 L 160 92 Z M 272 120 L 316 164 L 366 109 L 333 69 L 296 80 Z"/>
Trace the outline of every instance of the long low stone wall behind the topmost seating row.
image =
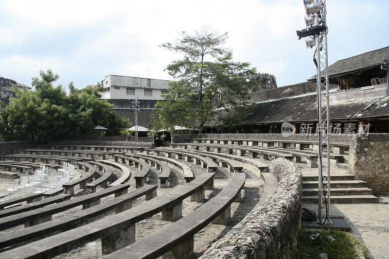
<path id="1" fill-rule="evenodd" d="M 287 139 L 287 140 L 313 140 L 318 141 L 318 136 L 314 134 L 293 134 L 283 137 L 282 134 L 173 134 L 172 143 L 193 142 L 194 138 L 231 138 L 231 139 Z M 353 135 L 339 134 L 332 136 L 334 142 L 350 142 Z"/>

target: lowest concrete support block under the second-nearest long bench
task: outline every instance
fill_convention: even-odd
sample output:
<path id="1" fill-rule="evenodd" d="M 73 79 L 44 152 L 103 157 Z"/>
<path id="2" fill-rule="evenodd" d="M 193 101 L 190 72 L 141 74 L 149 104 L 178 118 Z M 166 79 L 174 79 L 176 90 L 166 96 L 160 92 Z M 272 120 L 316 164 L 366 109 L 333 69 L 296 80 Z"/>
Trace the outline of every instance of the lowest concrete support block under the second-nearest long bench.
<path id="1" fill-rule="evenodd" d="M 135 224 L 101 238 L 103 255 L 113 253 L 135 242 Z"/>

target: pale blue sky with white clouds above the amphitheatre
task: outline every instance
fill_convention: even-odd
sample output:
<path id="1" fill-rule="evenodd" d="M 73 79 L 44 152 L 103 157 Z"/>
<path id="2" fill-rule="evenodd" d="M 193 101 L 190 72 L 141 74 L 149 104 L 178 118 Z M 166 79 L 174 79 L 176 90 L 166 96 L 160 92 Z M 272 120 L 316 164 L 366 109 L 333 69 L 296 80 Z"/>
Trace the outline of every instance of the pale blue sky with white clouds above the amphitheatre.
<path id="1" fill-rule="evenodd" d="M 389 46 L 388 0 L 327 0 L 328 61 Z M 95 85 L 106 75 L 171 80 L 182 55 L 160 48 L 181 31 L 228 32 L 235 61 L 273 74 L 278 86 L 316 74 L 302 0 L 1 0 L 0 76 L 31 86 L 52 69 L 55 85 Z"/>

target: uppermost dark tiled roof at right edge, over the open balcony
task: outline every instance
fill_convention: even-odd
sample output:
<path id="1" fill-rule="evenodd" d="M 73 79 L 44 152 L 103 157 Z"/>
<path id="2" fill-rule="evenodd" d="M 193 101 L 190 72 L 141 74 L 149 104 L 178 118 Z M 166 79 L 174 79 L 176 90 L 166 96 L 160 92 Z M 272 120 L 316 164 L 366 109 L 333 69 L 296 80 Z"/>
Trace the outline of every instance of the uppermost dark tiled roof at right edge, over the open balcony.
<path id="1" fill-rule="evenodd" d="M 379 66 L 389 59 L 389 46 L 336 61 L 328 67 L 330 77 Z M 310 79 L 316 79 L 316 75 Z"/>

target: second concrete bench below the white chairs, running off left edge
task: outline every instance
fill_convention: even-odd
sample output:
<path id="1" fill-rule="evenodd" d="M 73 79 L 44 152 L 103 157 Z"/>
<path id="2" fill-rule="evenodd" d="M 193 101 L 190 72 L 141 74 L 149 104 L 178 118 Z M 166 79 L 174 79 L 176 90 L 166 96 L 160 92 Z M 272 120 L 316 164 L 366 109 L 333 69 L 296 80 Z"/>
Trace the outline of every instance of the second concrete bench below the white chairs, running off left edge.
<path id="1" fill-rule="evenodd" d="M 33 210 L 36 208 L 45 207 L 54 203 L 60 203 L 66 200 L 69 200 L 71 194 L 59 194 L 44 200 L 36 201 L 30 204 L 24 204 L 18 207 L 6 208 L 0 211 L 0 218 L 4 218 L 7 216 L 15 215 L 18 213 L 22 213 L 25 211 Z"/>

